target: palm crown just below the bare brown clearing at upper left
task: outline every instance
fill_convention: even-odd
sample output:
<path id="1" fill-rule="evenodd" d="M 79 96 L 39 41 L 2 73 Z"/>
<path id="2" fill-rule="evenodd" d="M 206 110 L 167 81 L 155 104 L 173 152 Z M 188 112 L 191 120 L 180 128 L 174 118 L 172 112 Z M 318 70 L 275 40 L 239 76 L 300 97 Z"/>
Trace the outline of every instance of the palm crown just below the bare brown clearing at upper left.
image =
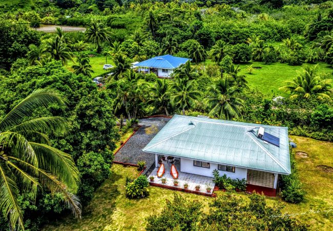
<path id="1" fill-rule="evenodd" d="M 72 50 L 67 46 L 64 36 L 55 36 L 44 40 L 44 51 L 55 60 L 61 60 L 63 66 L 68 60 L 73 60 Z"/>

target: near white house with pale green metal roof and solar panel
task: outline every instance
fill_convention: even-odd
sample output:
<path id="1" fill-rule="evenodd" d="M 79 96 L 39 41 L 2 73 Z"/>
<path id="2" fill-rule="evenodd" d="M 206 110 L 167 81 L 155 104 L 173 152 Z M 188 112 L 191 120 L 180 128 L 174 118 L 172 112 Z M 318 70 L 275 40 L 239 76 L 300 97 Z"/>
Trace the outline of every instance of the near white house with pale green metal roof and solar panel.
<path id="1" fill-rule="evenodd" d="M 161 156 L 175 157 L 180 172 L 213 177 L 217 169 L 274 192 L 278 175 L 291 173 L 286 127 L 176 114 L 143 151 L 155 155 L 156 166 Z"/>

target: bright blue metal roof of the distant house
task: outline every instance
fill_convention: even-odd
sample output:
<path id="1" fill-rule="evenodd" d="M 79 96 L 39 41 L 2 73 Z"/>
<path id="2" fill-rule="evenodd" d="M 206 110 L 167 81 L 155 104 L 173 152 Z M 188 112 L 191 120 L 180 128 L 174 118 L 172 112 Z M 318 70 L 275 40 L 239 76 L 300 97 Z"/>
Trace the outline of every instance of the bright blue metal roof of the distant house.
<path id="1" fill-rule="evenodd" d="M 165 68 L 165 69 L 175 69 L 181 64 L 188 62 L 190 59 L 183 57 L 175 57 L 170 54 L 165 54 L 162 56 L 152 57 L 149 60 L 142 61 L 135 64 L 135 67 L 153 67 L 153 68 Z"/>

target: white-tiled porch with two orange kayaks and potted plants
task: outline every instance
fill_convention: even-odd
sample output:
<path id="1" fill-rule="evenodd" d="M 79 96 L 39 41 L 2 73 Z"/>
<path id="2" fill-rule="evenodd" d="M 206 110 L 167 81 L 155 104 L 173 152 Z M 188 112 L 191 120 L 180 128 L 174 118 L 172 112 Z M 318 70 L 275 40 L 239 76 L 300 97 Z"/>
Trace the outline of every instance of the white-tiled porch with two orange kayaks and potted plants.
<path id="1" fill-rule="evenodd" d="M 157 171 L 160 166 L 157 161 L 158 156 L 159 155 L 156 155 L 156 165 L 155 166 L 157 166 L 157 167 L 155 167 L 153 169 L 153 171 L 151 172 L 151 175 L 150 175 L 150 176 L 154 177 L 154 181 L 151 182 L 149 180 L 150 185 L 163 187 L 163 188 L 169 188 L 169 189 L 178 190 L 178 191 L 192 192 L 192 193 L 199 194 L 199 195 L 212 196 L 213 189 L 215 186 L 215 183 L 213 182 L 213 178 L 195 175 L 195 174 L 189 174 L 186 172 L 181 172 L 180 171 L 180 165 L 181 165 L 180 159 L 177 161 L 177 159 L 175 158 L 173 161 L 173 164 L 175 165 L 175 167 L 178 171 L 178 179 L 176 179 L 179 182 L 178 186 L 174 185 L 173 176 L 170 174 L 171 165 L 172 165 L 171 160 L 168 160 L 167 158 L 165 158 L 165 160 L 162 160 L 162 164 L 164 165 L 165 172 L 161 178 L 158 178 Z M 162 181 L 161 181 L 162 178 L 166 179 L 166 183 L 162 183 Z M 184 184 L 188 184 L 188 188 L 184 188 Z M 197 185 L 200 186 L 199 190 L 196 190 L 196 188 L 195 188 Z M 206 188 L 208 186 L 211 188 L 210 192 L 207 192 L 207 190 L 206 190 Z"/>

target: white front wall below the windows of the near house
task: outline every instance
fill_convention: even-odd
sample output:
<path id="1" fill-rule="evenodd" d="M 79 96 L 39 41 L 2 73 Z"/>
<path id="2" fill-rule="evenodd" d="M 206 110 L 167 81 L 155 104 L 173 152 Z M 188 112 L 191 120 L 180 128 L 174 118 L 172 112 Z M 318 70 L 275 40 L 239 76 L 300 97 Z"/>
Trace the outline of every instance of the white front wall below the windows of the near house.
<path id="1" fill-rule="evenodd" d="M 203 167 L 197 167 L 193 165 L 193 160 L 191 159 L 180 159 L 180 171 L 181 172 L 187 172 L 190 174 L 196 174 L 206 177 L 213 177 L 213 170 L 217 169 L 217 164 L 211 163 L 210 168 L 203 168 Z M 230 177 L 231 179 L 243 179 L 247 177 L 247 169 L 246 168 L 240 168 L 235 167 L 235 172 L 228 172 L 228 171 L 220 171 L 220 176 L 225 174 L 227 177 Z"/>

